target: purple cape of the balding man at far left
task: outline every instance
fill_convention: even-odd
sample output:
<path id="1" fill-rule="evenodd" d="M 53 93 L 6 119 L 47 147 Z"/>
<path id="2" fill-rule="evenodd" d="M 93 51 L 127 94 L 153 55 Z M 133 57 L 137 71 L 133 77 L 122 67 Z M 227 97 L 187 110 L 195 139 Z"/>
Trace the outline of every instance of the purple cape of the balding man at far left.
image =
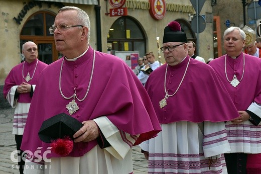
<path id="1" fill-rule="evenodd" d="M 35 61 L 28 63 L 27 61 L 25 61 L 25 66 L 24 66 L 24 77 L 27 76 L 27 73 L 29 71 L 30 76 L 32 78 L 33 74 L 34 74 L 34 70 L 35 70 L 35 66 L 36 66 L 36 62 L 37 59 L 35 59 Z M 30 81 L 26 81 L 23 78 L 23 65 L 24 62 L 16 65 L 15 67 L 13 67 L 10 71 L 10 73 L 8 74 L 6 80 L 5 80 L 5 86 L 4 86 L 4 96 L 5 98 L 8 95 L 8 92 L 10 91 L 10 89 L 15 86 L 15 85 L 20 85 L 23 81 L 29 84 L 36 84 L 38 77 L 40 75 L 40 73 L 42 72 L 42 70 L 47 66 L 46 63 L 41 62 L 40 60 L 38 61 L 36 70 L 35 70 L 35 74 L 33 76 L 33 79 L 31 79 Z M 18 102 L 19 103 L 31 103 L 32 98 L 30 97 L 30 93 L 25 93 L 25 94 L 20 94 L 19 98 L 18 98 Z"/>

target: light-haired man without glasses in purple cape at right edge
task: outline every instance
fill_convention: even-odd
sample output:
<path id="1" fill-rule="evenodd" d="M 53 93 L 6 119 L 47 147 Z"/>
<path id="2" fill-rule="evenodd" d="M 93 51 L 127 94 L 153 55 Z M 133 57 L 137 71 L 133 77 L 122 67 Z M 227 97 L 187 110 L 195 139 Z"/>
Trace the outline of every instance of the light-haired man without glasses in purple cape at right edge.
<path id="1" fill-rule="evenodd" d="M 225 153 L 227 171 L 260 173 L 261 59 L 243 53 L 247 38 L 239 27 L 223 35 L 226 54 L 209 62 L 225 85 L 240 117 L 226 122 L 231 151 Z M 248 155 L 252 160 L 248 160 Z M 248 165 L 247 165 L 248 164 Z"/>

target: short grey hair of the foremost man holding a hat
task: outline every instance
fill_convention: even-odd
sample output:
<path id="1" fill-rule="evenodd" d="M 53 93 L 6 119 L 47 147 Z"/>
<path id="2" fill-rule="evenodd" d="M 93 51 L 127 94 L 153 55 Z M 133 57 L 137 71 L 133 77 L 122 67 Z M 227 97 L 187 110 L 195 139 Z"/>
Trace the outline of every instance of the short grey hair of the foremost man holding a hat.
<path id="1" fill-rule="evenodd" d="M 90 40 L 90 27 L 91 27 L 89 16 L 87 15 L 86 12 L 84 12 L 80 8 L 73 7 L 73 6 L 65 6 L 65 7 L 59 9 L 58 13 L 63 12 L 63 11 L 67 11 L 67 10 L 68 11 L 69 10 L 77 11 L 77 16 L 78 16 L 78 21 L 77 22 L 79 22 L 79 25 L 83 25 L 84 27 L 88 28 L 88 43 L 89 43 L 89 40 Z"/>

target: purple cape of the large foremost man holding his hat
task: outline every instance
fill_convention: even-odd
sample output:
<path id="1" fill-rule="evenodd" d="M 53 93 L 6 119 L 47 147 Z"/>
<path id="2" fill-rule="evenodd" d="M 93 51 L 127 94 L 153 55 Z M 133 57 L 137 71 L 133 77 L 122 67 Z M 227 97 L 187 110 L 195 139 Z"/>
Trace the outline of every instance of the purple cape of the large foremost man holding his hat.
<path id="1" fill-rule="evenodd" d="M 73 96 L 83 99 L 91 76 L 94 50 L 88 51 L 76 61 L 67 61 L 64 57 L 50 64 L 43 72 L 31 103 L 26 123 L 22 149 L 35 152 L 43 147 L 41 155 L 50 146 L 38 137 L 38 131 L 43 121 L 60 113 L 69 114 L 66 105 Z M 63 68 L 61 71 L 61 65 Z M 59 78 L 61 75 L 61 91 Z M 151 104 L 150 98 L 125 62 L 121 59 L 95 51 L 95 62 L 89 92 L 83 101 L 75 98 L 79 109 L 71 117 L 79 122 L 93 120 L 106 116 L 119 130 L 131 135 L 139 135 L 132 145 L 140 144 L 157 135 L 161 131 L 159 121 Z M 82 156 L 91 150 L 97 141 L 74 143 L 74 148 L 68 156 Z M 50 153 L 47 157 L 59 157 Z"/>

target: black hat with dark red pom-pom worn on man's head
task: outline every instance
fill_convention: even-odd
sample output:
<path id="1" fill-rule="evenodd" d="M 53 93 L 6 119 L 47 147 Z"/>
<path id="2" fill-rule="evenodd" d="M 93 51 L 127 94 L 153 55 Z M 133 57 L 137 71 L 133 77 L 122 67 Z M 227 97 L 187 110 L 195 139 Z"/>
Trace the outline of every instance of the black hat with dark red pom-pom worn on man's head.
<path id="1" fill-rule="evenodd" d="M 163 43 L 183 42 L 187 43 L 187 36 L 177 21 L 172 21 L 164 29 Z"/>

